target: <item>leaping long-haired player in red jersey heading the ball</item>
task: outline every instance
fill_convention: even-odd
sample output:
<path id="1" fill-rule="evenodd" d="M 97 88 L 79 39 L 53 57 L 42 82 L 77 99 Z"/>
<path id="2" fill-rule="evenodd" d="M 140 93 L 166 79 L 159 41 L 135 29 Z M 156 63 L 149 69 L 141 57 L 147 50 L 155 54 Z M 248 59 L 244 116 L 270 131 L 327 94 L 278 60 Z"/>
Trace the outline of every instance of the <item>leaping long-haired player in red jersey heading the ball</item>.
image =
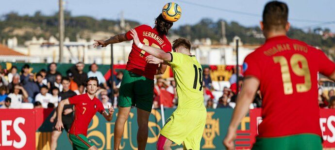
<path id="1" fill-rule="evenodd" d="M 173 23 L 166 21 L 162 14 L 155 20 L 155 27 L 141 25 L 135 28 L 139 40 L 145 45 L 163 49 L 165 52 L 171 51 L 171 43 L 166 35 Z M 117 34 L 112 38 L 102 41 L 95 40 L 94 47 L 102 47 L 109 44 L 120 43 L 133 40 L 127 33 Z M 138 150 L 144 150 L 148 140 L 148 122 L 153 103 L 153 79 L 154 75 L 164 74 L 167 65 L 151 64 L 146 62 L 149 56 L 144 50 L 138 48 L 134 43 L 129 54 L 126 71 L 122 77 L 118 99 L 118 115 L 114 128 L 114 150 L 119 149 L 121 137 L 124 131 L 124 123 L 127 121 L 130 108 L 135 105 L 137 109 L 137 145 Z"/>

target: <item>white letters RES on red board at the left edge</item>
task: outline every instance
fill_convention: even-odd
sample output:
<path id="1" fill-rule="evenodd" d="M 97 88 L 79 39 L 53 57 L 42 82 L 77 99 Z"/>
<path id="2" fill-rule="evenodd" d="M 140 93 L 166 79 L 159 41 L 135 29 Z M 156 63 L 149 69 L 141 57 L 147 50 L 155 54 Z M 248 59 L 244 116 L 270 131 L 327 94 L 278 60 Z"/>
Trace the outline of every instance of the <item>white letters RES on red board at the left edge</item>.
<path id="1" fill-rule="evenodd" d="M 27 143 L 27 136 L 26 134 L 22 131 L 22 129 L 20 129 L 20 127 L 18 126 L 20 123 L 24 124 L 25 123 L 25 119 L 22 117 L 18 117 L 17 119 L 14 120 L 13 123 L 13 129 L 14 132 L 20 137 L 20 141 L 17 142 L 16 140 L 7 140 L 7 136 L 11 135 L 11 131 L 7 130 L 7 126 L 11 126 L 12 125 L 12 120 L 1 120 L 1 138 L 2 138 L 2 145 L 0 144 L 0 146 L 12 146 L 16 149 L 21 149 L 23 148 L 26 143 Z"/>

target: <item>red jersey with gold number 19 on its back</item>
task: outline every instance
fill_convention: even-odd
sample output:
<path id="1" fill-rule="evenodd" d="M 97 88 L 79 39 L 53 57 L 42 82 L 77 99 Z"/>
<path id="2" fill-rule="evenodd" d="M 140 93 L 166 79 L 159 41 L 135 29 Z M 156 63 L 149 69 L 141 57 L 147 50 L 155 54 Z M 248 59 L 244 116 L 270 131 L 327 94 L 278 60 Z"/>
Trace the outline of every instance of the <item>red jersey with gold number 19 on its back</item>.
<path id="1" fill-rule="evenodd" d="M 321 50 L 286 36 L 267 39 L 244 61 L 244 74 L 260 81 L 263 121 L 259 137 L 321 136 L 318 72 L 331 75 L 334 62 Z"/>

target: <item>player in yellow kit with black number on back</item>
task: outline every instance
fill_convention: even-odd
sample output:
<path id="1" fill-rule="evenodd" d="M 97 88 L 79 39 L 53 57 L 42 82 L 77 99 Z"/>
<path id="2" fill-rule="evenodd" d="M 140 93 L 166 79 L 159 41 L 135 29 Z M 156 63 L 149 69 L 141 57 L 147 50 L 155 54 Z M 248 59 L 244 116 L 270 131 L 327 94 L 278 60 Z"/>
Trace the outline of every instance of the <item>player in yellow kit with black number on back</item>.
<path id="1" fill-rule="evenodd" d="M 194 55 L 191 44 L 184 38 L 173 41 L 173 52 L 140 43 L 137 33 L 131 30 L 135 45 L 148 52 L 148 63 L 162 63 L 171 66 L 177 83 L 178 107 L 166 121 L 160 132 L 157 150 L 171 150 L 172 142 L 181 145 L 184 150 L 199 150 L 207 112 L 203 105 L 202 69 Z M 139 33 L 143 34 L 143 33 Z"/>

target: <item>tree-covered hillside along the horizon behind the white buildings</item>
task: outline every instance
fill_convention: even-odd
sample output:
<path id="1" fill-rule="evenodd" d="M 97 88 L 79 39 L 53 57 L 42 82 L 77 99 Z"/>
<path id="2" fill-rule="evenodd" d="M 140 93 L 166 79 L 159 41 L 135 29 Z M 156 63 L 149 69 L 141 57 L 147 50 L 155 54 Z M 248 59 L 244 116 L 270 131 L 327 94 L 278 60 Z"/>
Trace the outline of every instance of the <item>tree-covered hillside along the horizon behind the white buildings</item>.
<path id="1" fill-rule="evenodd" d="M 213 21 L 204 18 L 194 25 L 183 25 L 171 30 L 171 35 L 186 37 L 192 41 L 196 39 L 210 38 L 212 44 L 219 44 L 221 39 L 221 21 Z M 225 22 L 226 37 L 228 43 L 235 35 L 239 36 L 245 44 L 262 44 L 264 37 L 259 27 L 244 27 L 237 22 Z M 125 20 L 125 29 L 129 30 L 139 25 L 139 22 Z M 71 16 L 70 12 L 65 12 L 65 36 L 70 41 L 76 41 L 78 37 L 90 40 L 96 37 L 105 37 L 122 32 L 119 20 L 97 20 L 91 16 Z M 322 33 L 323 35 L 321 35 Z M 316 28 L 306 33 L 301 29 L 292 27 L 288 36 L 302 40 L 310 45 L 318 46 L 325 51 L 334 52 L 335 37 L 328 36 L 330 30 Z M 36 12 L 33 16 L 18 15 L 9 13 L 0 20 L 0 40 L 5 40 L 16 36 L 19 45 L 24 41 L 31 40 L 33 36 L 37 38 L 49 38 L 51 35 L 57 37 L 58 34 L 58 13 L 47 16 L 41 12 Z M 335 55 L 335 54 L 334 54 Z"/>

